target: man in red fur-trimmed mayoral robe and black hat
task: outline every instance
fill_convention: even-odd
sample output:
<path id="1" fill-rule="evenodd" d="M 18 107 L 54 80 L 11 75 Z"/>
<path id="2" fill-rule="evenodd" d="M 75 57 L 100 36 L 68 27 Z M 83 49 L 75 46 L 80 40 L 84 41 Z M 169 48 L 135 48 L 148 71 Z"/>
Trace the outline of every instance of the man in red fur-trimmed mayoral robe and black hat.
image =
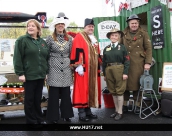
<path id="1" fill-rule="evenodd" d="M 97 115 L 91 107 L 101 106 L 99 45 L 94 33 L 93 19 L 85 19 L 84 31 L 78 33 L 71 50 L 71 65 L 75 67 L 73 106 L 78 108 L 79 120 L 89 121 Z"/>

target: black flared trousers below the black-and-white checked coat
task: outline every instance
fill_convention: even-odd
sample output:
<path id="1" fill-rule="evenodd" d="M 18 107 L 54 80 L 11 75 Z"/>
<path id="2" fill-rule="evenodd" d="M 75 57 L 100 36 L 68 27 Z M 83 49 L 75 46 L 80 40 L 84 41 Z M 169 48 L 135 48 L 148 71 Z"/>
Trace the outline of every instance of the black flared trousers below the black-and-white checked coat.
<path id="1" fill-rule="evenodd" d="M 74 116 L 70 97 L 70 87 L 49 87 L 49 98 L 47 108 L 47 120 L 59 120 L 59 96 L 61 118 L 71 118 Z"/>

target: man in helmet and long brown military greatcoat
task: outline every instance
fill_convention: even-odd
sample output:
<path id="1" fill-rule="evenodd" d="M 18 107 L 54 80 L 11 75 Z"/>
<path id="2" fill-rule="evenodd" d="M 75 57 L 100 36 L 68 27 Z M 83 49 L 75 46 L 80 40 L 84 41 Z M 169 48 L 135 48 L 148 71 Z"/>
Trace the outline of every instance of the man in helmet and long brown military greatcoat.
<path id="1" fill-rule="evenodd" d="M 152 62 L 151 41 L 148 33 L 140 27 L 140 21 L 141 19 L 135 14 L 126 20 L 128 27 L 123 31 L 124 36 L 121 41 L 126 46 L 130 56 L 127 89 L 124 93 L 124 112 L 128 111 L 127 101 L 129 100 L 130 91 L 133 91 L 133 99 L 136 101 L 140 88 L 140 76 L 143 74 L 144 69 L 150 69 Z M 135 106 L 140 106 L 140 101 L 135 103 Z M 136 111 L 138 110 L 139 108 Z"/>

